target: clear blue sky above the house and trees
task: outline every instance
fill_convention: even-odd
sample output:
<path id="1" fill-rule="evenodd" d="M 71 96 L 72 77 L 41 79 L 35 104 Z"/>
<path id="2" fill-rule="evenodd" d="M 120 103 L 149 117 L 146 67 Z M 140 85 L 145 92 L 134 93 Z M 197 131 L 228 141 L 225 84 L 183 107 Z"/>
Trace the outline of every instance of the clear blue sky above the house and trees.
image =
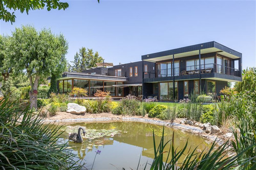
<path id="1" fill-rule="evenodd" d="M 0 33 L 15 27 L 50 28 L 69 42 L 72 61 L 81 46 L 114 64 L 140 61 L 141 55 L 217 41 L 243 53 L 243 68 L 256 64 L 255 1 L 63 1 L 65 11 L 37 10 L 16 22 L 0 21 Z"/>

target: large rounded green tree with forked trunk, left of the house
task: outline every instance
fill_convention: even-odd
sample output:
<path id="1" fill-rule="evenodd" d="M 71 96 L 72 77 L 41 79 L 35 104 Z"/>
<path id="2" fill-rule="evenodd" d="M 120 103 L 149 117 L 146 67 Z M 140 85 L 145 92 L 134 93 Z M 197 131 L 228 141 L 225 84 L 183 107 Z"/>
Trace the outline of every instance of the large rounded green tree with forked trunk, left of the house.
<path id="1" fill-rule="evenodd" d="M 36 109 L 39 80 L 57 72 L 63 55 L 67 53 L 67 42 L 62 35 L 54 35 L 50 30 L 37 32 L 34 27 L 23 26 L 12 32 L 7 48 L 13 73 L 27 73 L 31 85 L 30 108 Z"/>

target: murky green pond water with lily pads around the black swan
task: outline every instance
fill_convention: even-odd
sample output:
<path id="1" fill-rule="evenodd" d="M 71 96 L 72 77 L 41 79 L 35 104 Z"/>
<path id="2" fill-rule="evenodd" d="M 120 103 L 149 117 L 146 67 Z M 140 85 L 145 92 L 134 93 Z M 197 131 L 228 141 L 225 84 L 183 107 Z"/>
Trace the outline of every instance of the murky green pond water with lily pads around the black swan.
<path id="1" fill-rule="evenodd" d="M 163 129 L 163 126 L 140 122 L 74 123 L 61 129 L 65 131 L 61 136 L 61 142 L 68 141 L 69 133 L 77 133 L 81 126 L 87 129 L 83 143 L 69 141 L 69 144 L 76 148 L 73 152 L 86 163 L 88 169 L 92 167 L 97 150 L 100 150 L 101 154 L 96 156 L 93 169 L 137 169 L 140 155 L 139 169 L 144 169 L 146 162 L 151 164 L 154 158 L 153 129 L 157 144 Z M 184 147 L 187 140 L 187 151 L 190 146 L 191 149 L 198 146 L 199 152 L 209 147 L 210 143 L 206 139 L 169 127 L 165 127 L 165 140 L 172 139 L 173 133 L 175 148 L 178 147 L 178 150 Z M 166 151 L 168 149 L 169 147 L 166 147 Z M 167 154 L 164 154 L 164 160 L 166 157 Z M 147 165 L 146 169 L 149 168 L 150 165 Z"/>

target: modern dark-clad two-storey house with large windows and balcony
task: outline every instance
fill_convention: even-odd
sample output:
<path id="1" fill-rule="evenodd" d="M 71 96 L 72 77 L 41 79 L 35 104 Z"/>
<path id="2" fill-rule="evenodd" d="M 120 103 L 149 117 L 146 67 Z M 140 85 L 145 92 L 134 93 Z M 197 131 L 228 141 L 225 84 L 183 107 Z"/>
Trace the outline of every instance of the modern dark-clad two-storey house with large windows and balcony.
<path id="1" fill-rule="evenodd" d="M 242 81 L 242 54 L 215 41 L 141 56 L 142 61 L 111 68 L 97 67 L 64 72 L 59 92 L 73 87 L 128 94 L 157 96 L 160 101 L 177 101 L 190 93 L 219 96 L 228 82 Z"/>

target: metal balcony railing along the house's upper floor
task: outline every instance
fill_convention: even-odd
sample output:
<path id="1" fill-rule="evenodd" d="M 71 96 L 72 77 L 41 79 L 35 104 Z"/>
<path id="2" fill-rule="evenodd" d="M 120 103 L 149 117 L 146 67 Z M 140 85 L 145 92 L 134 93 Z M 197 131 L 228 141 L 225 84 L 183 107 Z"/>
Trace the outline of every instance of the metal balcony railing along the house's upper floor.
<path id="1" fill-rule="evenodd" d="M 185 70 L 180 70 L 180 67 L 174 68 L 174 75 L 175 76 L 184 76 L 184 75 L 200 74 L 199 66 L 200 65 L 186 66 Z M 201 64 L 201 74 L 209 74 L 211 72 L 217 72 L 219 74 L 241 77 L 240 70 L 236 69 L 236 68 L 231 68 L 231 67 L 223 66 L 220 64 L 216 64 L 216 63 Z M 173 68 L 150 70 L 150 71 L 144 72 L 144 79 L 172 77 L 172 76 L 173 76 Z"/>

